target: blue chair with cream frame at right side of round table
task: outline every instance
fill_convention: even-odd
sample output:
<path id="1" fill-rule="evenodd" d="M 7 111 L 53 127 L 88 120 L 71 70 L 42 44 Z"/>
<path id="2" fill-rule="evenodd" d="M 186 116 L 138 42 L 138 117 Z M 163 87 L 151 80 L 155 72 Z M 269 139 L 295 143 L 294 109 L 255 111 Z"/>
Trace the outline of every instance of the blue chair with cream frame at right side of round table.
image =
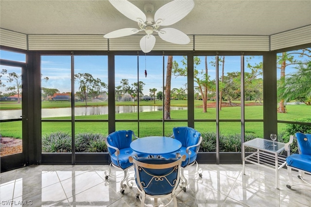
<path id="1" fill-rule="evenodd" d="M 181 163 L 181 179 L 183 180 L 181 187 L 186 191 L 186 186 L 188 184 L 188 181 L 184 176 L 184 169 L 186 167 L 196 164 L 196 172 L 194 174 L 199 174 L 199 176 L 202 177 L 203 170 L 201 168 L 198 169 L 198 163 L 196 161 L 202 136 L 201 133 L 195 129 L 183 126 L 174 127 L 172 137 L 179 140 L 182 144 L 182 147 L 176 153 L 186 155 L 186 160 Z"/>

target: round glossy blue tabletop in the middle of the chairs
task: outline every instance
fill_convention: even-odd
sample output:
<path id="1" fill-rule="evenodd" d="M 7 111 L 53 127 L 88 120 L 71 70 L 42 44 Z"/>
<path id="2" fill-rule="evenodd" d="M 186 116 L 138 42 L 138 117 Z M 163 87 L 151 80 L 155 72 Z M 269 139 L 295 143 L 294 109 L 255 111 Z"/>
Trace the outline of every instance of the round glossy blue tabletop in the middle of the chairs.
<path id="1" fill-rule="evenodd" d="M 181 142 L 169 137 L 145 137 L 131 142 L 131 149 L 137 153 L 148 155 L 164 155 L 176 152 L 181 148 Z"/>

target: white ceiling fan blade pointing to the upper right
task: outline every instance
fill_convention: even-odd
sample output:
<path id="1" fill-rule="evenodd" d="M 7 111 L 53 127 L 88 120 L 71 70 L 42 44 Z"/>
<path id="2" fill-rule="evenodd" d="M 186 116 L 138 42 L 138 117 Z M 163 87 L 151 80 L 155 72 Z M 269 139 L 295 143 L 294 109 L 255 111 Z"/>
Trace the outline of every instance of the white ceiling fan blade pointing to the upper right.
<path id="1" fill-rule="evenodd" d="M 194 7 L 193 0 L 173 0 L 161 6 L 155 12 L 155 22 L 162 19 L 162 26 L 168 26 L 176 23 L 186 17 Z"/>

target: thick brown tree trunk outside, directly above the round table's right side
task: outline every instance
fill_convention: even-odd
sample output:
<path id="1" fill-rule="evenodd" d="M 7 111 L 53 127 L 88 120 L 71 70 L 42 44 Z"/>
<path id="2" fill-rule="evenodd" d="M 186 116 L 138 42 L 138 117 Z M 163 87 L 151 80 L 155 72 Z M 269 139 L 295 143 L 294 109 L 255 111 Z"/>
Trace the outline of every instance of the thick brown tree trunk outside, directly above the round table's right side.
<path id="1" fill-rule="evenodd" d="M 166 67 L 164 119 L 171 119 L 171 78 L 172 78 L 173 56 L 168 56 Z"/>

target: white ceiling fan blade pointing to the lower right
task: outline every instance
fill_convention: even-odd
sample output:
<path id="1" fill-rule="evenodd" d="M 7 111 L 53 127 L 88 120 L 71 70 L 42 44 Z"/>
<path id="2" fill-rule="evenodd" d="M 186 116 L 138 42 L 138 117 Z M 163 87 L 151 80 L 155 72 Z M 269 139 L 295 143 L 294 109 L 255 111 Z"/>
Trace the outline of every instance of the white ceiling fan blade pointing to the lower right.
<path id="1" fill-rule="evenodd" d="M 190 42 L 190 38 L 185 33 L 174 28 L 163 28 L 158 32 L 161 39 L 174 44 L 185 45 Z"/>

